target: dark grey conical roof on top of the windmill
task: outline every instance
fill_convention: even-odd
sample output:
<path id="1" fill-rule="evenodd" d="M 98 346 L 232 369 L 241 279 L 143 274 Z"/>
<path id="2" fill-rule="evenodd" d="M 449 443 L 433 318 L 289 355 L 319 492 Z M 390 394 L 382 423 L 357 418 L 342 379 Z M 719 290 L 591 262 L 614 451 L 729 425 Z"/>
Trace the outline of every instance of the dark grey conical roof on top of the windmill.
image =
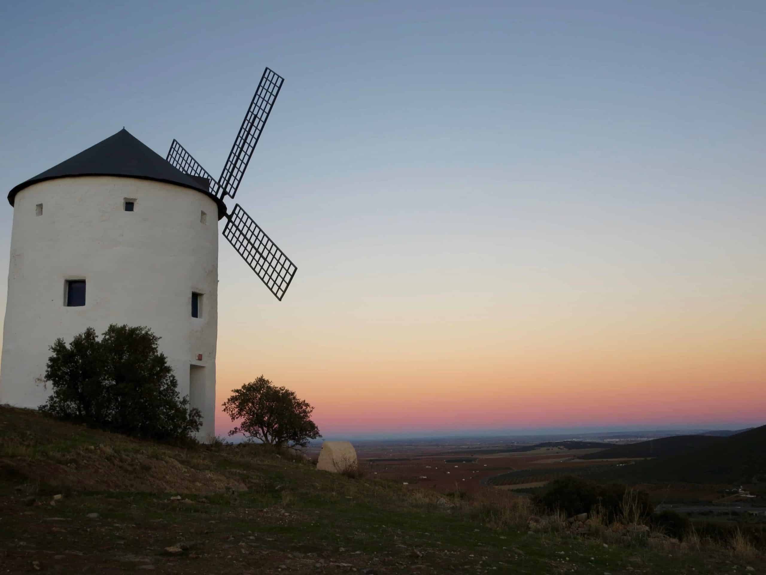
<path id="1" fill-rule="evenodd" d="M 226 213 L 224 202 L 208 191 L 207 179 L 188 176 L 175 168 L 125 128 L 34 178 L 21 182 L 8 193 L 8 202 L 13 205 L 16 194 L 32 184 L 73 176 L 122 176 L 167 182 L 208 195 L 218 204 L 219 219 Z"/>

